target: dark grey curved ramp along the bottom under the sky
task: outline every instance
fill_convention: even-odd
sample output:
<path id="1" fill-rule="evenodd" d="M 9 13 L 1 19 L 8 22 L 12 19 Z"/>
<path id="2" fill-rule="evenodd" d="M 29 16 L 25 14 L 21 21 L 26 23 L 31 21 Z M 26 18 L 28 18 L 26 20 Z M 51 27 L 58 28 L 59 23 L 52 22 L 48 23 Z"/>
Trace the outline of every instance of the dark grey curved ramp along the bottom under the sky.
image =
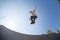
<path id="1" fill-rule="evenodd" d="M 14 32 L 0 25 L 0 40 L 60 40 L 60 34 L 26 35 Z"/>

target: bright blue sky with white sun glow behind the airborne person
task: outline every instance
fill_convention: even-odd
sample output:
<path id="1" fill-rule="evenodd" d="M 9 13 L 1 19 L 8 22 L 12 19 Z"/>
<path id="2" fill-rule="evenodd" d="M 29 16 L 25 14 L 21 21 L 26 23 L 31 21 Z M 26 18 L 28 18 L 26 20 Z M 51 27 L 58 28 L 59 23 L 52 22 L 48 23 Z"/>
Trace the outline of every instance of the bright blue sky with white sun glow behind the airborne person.
<path id="1" fill-rule="evenodd" d="M 30 11 L 36 5 L 38 18 L 30 24 Z M 27 34 L 41 35 L 49 29 L 60 29 L 60 4 L 57 0 L 0 0 L 0 24 L 8 29 Z"/>

